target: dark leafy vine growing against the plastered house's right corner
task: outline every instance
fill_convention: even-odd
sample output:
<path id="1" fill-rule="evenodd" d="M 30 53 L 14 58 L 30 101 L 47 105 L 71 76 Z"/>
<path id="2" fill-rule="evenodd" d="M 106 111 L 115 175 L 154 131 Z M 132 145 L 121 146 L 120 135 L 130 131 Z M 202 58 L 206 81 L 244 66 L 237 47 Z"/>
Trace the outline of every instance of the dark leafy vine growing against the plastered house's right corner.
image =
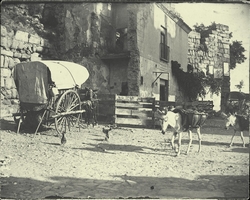
<path id="1" fill-rule="evenodd" d="M 197 73 L 184 72 L 177 62 L 172 63 L 172 73 L 183 93 L 190 101 L 197 100 L 197 97 L 206 95 L 206 88 L 211 93 L 218 94 L 221 89 L 222 80 L 215 79 L 212 75 L 206 75 L 203 71 Z"/>

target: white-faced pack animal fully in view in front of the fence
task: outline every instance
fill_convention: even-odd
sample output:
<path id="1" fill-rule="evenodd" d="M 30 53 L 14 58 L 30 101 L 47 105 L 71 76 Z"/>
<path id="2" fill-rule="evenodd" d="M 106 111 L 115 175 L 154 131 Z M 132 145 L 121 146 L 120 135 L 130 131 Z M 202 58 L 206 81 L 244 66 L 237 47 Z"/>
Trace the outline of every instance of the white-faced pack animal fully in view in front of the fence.
<path id="1" fill-rule="evenodd" d="M 177 155 L 180 155 L 181 152 L 181 139 L 182 132 L 187 131 L 189 134 L 189 144 L 186 151 L 186 154 L 189 153 L 190 146 L 192 144 L 192 129 L 196 128 L 198 139 L 199 139 L 199 149 L 198 152 L 201 152 L 201 133 L 200 127 L 204 124 L 207 114 L 205 113 L 187 113 L 184 110 L 175 109 L 173 111 L 162 112 L 160 110 L 156 111 L 156 118 L 159 118 L 161 123 L 161 132 L 165 134 L 166 129 L 171 126 L 174 129 L 171 146 L 174 149 L 174 141 L 178 135 L 178 150 L 176 151 Z M 176 150 L 176 149 L 175 149 Z"/>

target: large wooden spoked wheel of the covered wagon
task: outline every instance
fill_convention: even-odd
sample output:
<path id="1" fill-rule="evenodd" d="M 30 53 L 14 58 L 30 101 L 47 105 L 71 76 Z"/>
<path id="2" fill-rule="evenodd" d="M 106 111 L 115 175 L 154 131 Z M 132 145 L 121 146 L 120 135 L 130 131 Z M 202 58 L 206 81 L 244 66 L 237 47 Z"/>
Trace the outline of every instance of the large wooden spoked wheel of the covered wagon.
<path id="1" fill-rule="evenodd" d="M 64 92 L 56 104 L 55 128 L 59 135 L 63 135 L 70 131 L 70 127 L 79 123 L 80 115 L 74 111 L 81 110 L 80 97 L 74 90 Z"/>

